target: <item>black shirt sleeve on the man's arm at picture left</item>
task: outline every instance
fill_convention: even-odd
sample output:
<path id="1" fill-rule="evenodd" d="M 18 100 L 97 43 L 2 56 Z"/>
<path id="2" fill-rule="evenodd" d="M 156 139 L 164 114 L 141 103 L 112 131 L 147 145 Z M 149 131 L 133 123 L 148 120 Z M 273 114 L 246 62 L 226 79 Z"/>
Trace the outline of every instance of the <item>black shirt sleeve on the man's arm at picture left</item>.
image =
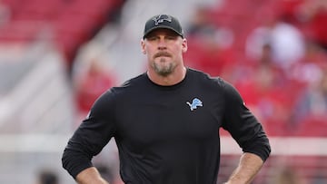
<path id="1" fill-rule="evenodd" d="M 114 92 L 108 91 L 95 102 L 86 119 L 68 141 L 62 163 L 75 179 L 84 169 L 92 167 L 92 158 L 114 137 Z"/>

